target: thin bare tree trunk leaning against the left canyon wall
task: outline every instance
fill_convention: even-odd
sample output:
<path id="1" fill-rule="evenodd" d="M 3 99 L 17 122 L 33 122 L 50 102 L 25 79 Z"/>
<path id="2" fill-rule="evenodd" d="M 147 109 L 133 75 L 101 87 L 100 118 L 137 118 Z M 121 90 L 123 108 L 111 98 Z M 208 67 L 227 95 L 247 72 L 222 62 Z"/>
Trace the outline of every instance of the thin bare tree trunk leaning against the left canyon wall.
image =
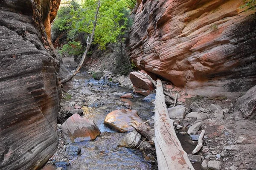
<path id="1" fill-rule="evenodd" d="M 88 53 L 88 51 L 89 51 L 89 49 L 90 49 L 90 46 L 91 46 L 91 44 L 92 44 L 92 42 L 93 42 L 93 36 L 94 36 L 94 32 L 95 32 L 95 28 L 96 28 L 96 24 L 97 24 L 97 17 L 98 17 L 98 13 L 99 13 L 99 7 L 100 7 L 100 0 L 99 0 L 99 2 L 98 2 L 97 11 L 96 11 L 95 17 L 94 17 L 94 18 L 95 18 L 95 21 L 94 21 L 94 23 L 93 23 L 93 31 L 92 31 L 92 34 L 91 34 L 91 36 L 90 36 L 90 41 L 88 42 L 88 40 L 89 40 L 89 37 L 88 37 L 88 38 L 87 38 L 86 50 L 84 51 L 84 54 L 83 54 L 82 59 L 81 59 L 81 62 L 79 63 L 79 65 L 78 65 L 77 68 L 76 68 L 76 71 L 75 71 L 73 74 L 71 74 L 69 77 L 67 77 L 67 78 L 61 80 L 61 83 L 62 83 L 62 84 L 64 84 L 64 83 L 70 81 L 70 80 L 79 72 L 80 68 L 82 67 L 82 65 L 83 65 L 83 63 L 84 63 L 84 59 L 85 59 L 85 57 L 87 56 L 87 53 Z"/>

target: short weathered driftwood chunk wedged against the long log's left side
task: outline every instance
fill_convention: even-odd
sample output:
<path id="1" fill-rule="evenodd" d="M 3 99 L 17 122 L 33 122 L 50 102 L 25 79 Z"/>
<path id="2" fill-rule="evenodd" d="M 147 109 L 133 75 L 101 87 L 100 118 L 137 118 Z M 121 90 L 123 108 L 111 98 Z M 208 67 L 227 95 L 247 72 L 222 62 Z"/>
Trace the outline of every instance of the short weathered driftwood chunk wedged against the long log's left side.
<path id="1" fill-rule="evenodd" d="M 154 129 L 151 129 L 151 127 L 146 125 L 145 123 L 139 123 L 136 121 L 134 122 L 132 127 L 134 127 L 134 129 L 142 136 L 147 138 L 150 144 L 154 145 Z"/>

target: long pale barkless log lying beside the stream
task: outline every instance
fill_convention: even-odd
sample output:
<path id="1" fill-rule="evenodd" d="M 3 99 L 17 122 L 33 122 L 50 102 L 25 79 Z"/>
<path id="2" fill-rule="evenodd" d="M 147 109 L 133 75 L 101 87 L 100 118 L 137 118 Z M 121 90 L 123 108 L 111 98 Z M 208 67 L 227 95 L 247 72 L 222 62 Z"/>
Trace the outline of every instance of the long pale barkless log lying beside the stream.
<path id="1" fill-rule="evenodd" d="M 173 122 L 168 116 L 165 105 L 163 86 L 157 79 L 154 116 L 154 143 L 159 170 L 194 170 L 187 153 L 183 150 L 176 136 Z"/>

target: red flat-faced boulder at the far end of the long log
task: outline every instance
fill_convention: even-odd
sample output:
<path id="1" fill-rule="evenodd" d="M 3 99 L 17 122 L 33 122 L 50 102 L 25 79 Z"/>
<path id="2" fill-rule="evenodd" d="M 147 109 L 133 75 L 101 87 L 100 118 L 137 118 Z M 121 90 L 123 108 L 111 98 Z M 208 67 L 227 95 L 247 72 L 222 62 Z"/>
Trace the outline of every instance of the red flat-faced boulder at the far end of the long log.
<path id="1" fill-rule="evenodd" d="M 154 90 L 154 85 L 152 82 L 143 74 L 140 74 L 138 72 L 131 72 L 130 73 L 130 79 L 133 85 L 135 85 L 138 88 L 143 88 L 145 90 Z"/>

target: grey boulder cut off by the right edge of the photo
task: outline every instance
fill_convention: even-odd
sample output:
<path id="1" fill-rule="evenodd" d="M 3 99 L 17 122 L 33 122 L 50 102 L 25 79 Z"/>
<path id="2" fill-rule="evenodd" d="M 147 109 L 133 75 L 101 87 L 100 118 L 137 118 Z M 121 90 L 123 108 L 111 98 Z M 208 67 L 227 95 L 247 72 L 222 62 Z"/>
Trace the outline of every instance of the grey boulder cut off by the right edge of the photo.
<path id="1" fill-rule="evenodd" d="M 237 105 L 245 118 L 256 113 L 256 85 L 237 99 Z"/>

